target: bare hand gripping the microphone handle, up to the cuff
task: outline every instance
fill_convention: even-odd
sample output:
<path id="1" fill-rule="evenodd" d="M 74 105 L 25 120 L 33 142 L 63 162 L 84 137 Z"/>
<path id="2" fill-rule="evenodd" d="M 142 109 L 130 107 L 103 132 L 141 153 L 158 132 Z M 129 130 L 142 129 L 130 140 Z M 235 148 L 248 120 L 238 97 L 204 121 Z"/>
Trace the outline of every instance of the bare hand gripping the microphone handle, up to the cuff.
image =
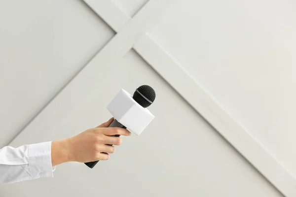
<path id="1" fill-rule="evenodd" d="M 51 143 L 52 166 L 65 162 L 93 162 L 108 160 L 109 153 L 115 152 L 115 147 L 107 145 L 120 145 L 122 139 L 111 135 L 131 134 L 130 131 L 122 128 L 108 128 L 114 119 L 102 125 L 86 130 L 74 137 L 53 141 Z"/>

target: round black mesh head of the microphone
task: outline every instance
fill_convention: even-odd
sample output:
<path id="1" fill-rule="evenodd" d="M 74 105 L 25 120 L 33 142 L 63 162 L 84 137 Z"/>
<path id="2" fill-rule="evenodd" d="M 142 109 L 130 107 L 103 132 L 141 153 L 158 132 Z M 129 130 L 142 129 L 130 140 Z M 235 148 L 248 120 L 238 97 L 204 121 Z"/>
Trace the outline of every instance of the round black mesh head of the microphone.
<path id="1" fill-rule="evenodd" d="M 148 85 L 140 86 L 136 89 L 133 99 L 142 107 L 146 108 L 153 103 L 155 99 L 155 91 Z"/>

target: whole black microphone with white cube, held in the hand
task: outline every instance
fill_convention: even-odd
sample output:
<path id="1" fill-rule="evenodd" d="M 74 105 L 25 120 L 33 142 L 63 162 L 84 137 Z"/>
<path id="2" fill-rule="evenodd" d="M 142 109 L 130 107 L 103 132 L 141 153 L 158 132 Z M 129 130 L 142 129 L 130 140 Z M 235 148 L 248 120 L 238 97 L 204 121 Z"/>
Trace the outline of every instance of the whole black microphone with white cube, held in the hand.
<path id="1" fill-rule="evenodd" d="M 107 106 L 107 109 L 115 118 L 109 127 L 128 128 L 135 134 L 140 135 L 154 118 L 147 107 L 153 103 L 155 96 L 155 91 L 148 85 L 137 88 L 133 97 L 121 89 Z M 120 135 L 112 136 L 119 137 Z M 98 162 L 84 164 L 93 168 Z"/>

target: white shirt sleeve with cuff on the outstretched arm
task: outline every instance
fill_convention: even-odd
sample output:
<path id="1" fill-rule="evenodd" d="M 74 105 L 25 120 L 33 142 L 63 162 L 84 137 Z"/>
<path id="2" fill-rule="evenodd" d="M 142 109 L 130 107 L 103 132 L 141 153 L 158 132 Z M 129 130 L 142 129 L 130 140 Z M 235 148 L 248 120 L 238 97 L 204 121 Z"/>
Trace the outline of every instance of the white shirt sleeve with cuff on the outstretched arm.
<path id="1" fill-rule="evenodd" d="M 53 177 L 51 142 L 0 149 L 0 183 Z"/>

